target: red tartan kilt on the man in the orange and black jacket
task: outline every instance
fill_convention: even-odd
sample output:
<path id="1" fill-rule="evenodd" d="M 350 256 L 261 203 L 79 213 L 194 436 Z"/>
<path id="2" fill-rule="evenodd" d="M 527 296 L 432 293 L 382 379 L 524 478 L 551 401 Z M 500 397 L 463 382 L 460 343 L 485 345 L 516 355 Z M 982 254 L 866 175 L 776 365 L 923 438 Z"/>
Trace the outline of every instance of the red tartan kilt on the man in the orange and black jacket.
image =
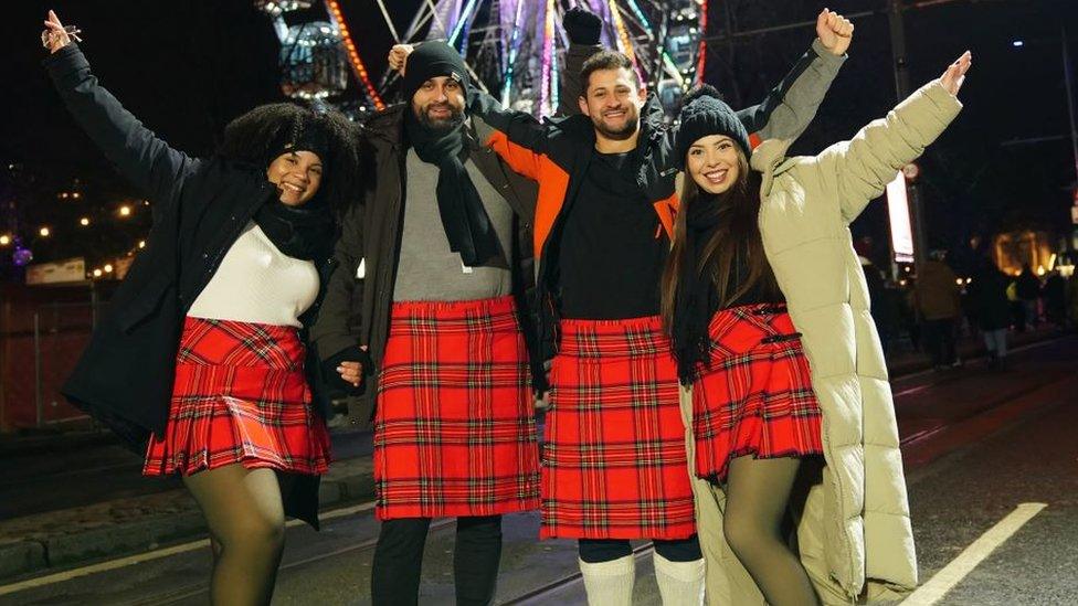
<path id="1" fill-rule="evenodd" d="M 550 370 L 540 538 L 696 532 L 677 366 L 658 317 L 562 320 Z"/>

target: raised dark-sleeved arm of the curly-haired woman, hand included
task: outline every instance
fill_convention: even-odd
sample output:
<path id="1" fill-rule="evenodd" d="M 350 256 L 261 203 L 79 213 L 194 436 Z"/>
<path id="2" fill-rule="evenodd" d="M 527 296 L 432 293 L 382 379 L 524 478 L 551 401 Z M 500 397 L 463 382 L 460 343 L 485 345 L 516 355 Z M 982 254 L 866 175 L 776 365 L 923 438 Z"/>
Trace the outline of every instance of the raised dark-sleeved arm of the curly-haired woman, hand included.
<path id="1" fill-rule="evenodd" d="M 49 11 L 45 26 L 42 40 L 50 55 L 44 66 L 64 105 L 119 173 L 156 202 L 156 222 L 199 161 L 169 147 L 97 83 L 56 13 Z"/>

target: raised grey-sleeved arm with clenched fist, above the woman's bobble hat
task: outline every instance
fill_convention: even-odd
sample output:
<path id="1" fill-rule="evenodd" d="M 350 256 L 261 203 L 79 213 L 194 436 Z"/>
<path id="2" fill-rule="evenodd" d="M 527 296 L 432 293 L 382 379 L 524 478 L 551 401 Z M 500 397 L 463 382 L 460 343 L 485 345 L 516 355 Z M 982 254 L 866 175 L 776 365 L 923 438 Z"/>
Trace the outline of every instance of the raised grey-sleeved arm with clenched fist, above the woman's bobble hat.
<path id="1" fill-rule="evenodd" d="M 854 25 L 824 9 L 816 18 L 816 35 L 808 51 L 763 102 L 738 111 L 753 145 L 767 139 L 796 139 L 816 116 L 816 109 L 846 62 Z"/>

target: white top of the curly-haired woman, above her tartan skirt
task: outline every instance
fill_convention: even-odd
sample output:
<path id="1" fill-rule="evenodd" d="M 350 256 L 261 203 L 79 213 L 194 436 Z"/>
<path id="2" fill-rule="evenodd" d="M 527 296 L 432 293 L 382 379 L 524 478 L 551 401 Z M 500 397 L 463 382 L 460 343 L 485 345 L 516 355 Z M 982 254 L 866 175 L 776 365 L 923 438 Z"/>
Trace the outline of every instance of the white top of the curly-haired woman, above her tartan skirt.
<path id="1" fill-rule="evenodd" d="M 299 316 L 318 296 L 318 270 L 289 257 L 253 222 L 221 259 L 188 316 L 302 328 Z"/>

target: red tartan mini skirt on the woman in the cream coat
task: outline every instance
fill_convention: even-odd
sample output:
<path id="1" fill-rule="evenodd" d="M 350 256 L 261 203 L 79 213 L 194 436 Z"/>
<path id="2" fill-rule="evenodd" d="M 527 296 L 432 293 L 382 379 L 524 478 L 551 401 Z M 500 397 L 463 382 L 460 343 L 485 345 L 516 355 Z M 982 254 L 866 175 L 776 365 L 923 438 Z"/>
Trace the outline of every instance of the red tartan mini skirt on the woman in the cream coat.
<path id="1" fill-rule="evenodd" d="M 784 306 L 718 311 L 710 355 L 693 385 L 696 474 L 725 481 L 730 460 L 823 453 L 808 360 Z"/>

